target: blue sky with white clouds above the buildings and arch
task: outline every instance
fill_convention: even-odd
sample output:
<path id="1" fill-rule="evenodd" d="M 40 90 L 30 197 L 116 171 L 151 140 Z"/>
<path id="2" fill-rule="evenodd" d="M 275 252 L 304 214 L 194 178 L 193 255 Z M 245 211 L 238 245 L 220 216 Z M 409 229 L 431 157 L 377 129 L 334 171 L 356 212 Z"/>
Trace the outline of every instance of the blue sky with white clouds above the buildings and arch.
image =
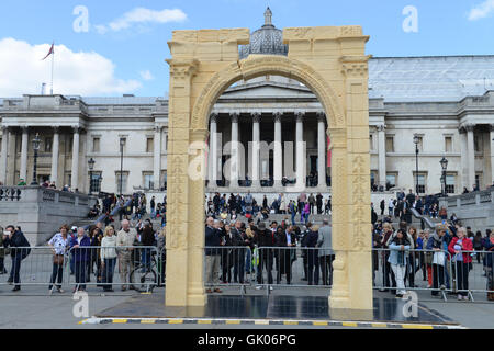
<path id="1" fill-rule="evenodd" d="M 2 0 L 0 97 L 166 95 L 176 30 L 352 25 L 374 57 L 494 55 L 494 0 Z"/>

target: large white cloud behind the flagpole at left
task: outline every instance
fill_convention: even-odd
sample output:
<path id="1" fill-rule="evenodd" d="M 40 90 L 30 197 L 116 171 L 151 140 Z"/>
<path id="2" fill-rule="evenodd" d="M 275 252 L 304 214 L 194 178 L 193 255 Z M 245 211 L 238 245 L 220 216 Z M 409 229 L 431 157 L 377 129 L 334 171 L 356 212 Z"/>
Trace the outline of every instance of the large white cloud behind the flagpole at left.
<path id="1" fill-rule="evenodd" d="M 42 61 L 49 47 L 0 39 L 0 97 L 37 94 L 43 82 L 49 86 L 52 58 Z M 98 53 L 75 53 L 55 45 L 54 86 L 54 93 L 106 95 L 134 92 L 142 83 L 116 78 L 115 65 Z"/>

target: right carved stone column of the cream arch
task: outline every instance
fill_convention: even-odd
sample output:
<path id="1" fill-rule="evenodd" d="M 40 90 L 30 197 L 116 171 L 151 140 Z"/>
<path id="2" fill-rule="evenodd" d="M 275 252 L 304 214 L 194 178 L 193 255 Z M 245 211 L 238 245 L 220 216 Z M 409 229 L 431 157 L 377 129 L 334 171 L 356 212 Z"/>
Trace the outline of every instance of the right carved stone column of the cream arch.
<path id="1" fill-rule="evenodd" d="M 341 57 L 347 128 L 330 129 L 336 173 L 332 178 L 336 260 L 329 306 L 340 312 L 361 310 L 361 318 L 371 317 L 373 309 L 368 59 L 368 56 Z M 344 145 L 346 154 L 341 152 Z"/>

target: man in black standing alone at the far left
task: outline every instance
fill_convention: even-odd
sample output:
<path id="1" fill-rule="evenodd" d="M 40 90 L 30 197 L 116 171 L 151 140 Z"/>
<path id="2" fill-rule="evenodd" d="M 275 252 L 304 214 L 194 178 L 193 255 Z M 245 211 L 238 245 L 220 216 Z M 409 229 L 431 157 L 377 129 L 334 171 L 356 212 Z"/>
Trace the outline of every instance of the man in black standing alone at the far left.
<path id="1" fill-rule="evenodd" d="M 14 226 L 8 226 L 5 231 L 8 231 L 9 235 L 4 237 L 3 245 L 5 247 L 11 247 L 10 256 L 12 257 L 12 269 L 10 271 L 8 283 L 13 283 L 14 288 L 12 291 L 18 292 L 21 290 L 21 262 L 31 252 L 31 249 L 29 248 L 30 242 L 19 227 L 15 229 Z"/>

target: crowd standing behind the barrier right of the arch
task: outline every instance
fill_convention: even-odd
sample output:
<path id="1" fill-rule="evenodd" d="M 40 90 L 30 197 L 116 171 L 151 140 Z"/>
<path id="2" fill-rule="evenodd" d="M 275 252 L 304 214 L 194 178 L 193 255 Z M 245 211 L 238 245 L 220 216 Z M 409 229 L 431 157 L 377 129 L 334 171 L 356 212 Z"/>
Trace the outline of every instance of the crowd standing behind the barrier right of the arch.
<path id="1" fill-rule="evenodd" d="M 392 223 L 384 218 L 374 224 L 372 242 L 377 249 L 372 259 L 373 279 L 381 270 L 381 291 L 389 291 L 397 297 L 406 293 L 405 285 L 416 287 L 416 274 L 422 271 L 433 296 L 448 290 L 457 294 L 459 301 L 469 299 L 469 273 L 473 269 L 474 257 L 478 263 L 482 263 L 486 288 L 494 290 L 494 233 L 491 230 L 482 237 L 481 231 L 474 235 L 460 222 L 446 220 L 434 231 L 417 230 L 406 222 L 393 228 Z M 487 298 L 494 301 L 494 294 L 487 293 Z"/>

